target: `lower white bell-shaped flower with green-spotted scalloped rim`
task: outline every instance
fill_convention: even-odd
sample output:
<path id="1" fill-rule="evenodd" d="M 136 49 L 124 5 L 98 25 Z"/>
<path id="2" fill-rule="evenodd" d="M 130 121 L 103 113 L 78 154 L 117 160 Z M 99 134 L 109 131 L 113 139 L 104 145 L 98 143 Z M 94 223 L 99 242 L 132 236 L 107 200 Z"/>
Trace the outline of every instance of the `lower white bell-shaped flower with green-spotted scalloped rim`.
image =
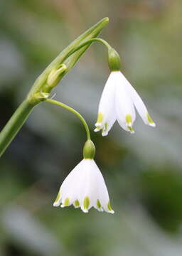
<path id="1" fill-rule="evenodd" d="M 93 159 L 83 159 L 65 178 L 53 206 L 75 206 L 84 213 L 93 206 L 99 211 L 114 213 L 104 178 Z"/>

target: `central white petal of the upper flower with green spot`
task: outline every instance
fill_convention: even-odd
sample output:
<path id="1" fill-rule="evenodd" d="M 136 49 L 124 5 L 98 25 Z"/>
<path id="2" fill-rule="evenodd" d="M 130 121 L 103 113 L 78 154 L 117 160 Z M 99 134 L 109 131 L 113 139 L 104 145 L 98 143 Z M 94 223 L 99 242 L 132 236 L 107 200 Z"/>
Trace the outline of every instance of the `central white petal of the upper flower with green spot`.
<path id="1" fill-rule="evenodd" d="M 124 85 L 126 80 L 123 79 L 122 73 L 120 71 L 115 73 L 117 73 L 117 85 L 115 92 L 117 120 L 123 129 L 133 133 L 134 131 L 132 129 L 132 124 L 134 123 L 136 117 L 134 105 L 129 92 L 126 90 Z"/>

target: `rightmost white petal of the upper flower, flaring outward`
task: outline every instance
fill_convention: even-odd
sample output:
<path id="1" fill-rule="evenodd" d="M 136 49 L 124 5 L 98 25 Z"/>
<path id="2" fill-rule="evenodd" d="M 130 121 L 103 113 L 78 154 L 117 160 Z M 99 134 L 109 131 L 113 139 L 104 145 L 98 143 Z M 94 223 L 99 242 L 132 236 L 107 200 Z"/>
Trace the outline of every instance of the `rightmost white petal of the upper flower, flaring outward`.
<path id="1" fill-rule="evenodd" d="M 147 111 L 146 105 L 144 105 L 143 100 L 141 100 L 141 97 L 139 96 L 137 91 L 134 89 L 134 87 L 132 87 L 130 82 L 127 80 L 127 78 L 124 77 L 124 75 L 122 75 L 122 73 L 121 73 L 121 76 L 122 76 L 123 80 L 125 80 L 124 85 L 125 85 L 126 89 L 128 90 L 130 97 L 132 98 L 132 101 L 134 102 L 134 106 L 137 108 L 137 111 L 139 112 L 139 115 L 143 119 L 144 123 L 149 124 L 152 127 L 155 127 L 156 124 L 153 122 L 153 120 L 149 116 L 149 112 Z"/>

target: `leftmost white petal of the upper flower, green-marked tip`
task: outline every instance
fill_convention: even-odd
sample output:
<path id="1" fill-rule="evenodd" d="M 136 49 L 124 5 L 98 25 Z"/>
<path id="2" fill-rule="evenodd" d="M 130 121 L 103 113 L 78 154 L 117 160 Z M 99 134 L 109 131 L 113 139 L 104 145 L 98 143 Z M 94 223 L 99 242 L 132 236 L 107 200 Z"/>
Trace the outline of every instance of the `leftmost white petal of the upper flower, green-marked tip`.
<path id="1" fill-rule="evenodd" d="M 102 92 L 102 96 L 100 98 L 100 105 L 98 110 L 98 119 L 95 124 L 96 129 L 95 132 L 100 131 L 100 129 L 107 129 L 107 133 L 109 129 L 111 129 L 114 124 L 116 118 L 114 115 L 114 90 L 115 90 L 115 73 L 112 72 L 109 75 L 109 78 L 105 84 L 105 88 Z M 107 124 L 107 128 L 105 127 Z"/>

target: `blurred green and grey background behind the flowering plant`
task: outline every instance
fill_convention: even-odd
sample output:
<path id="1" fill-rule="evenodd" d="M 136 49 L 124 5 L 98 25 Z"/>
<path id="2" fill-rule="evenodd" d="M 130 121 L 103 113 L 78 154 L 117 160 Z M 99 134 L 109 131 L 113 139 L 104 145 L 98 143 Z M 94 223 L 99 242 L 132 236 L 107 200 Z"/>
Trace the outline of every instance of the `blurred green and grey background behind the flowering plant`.
<path id="1" fill-rule="evenodd" d="M 65 176 L 82 159 L 85 131 L 73 114 L 42 103 L 1 157 L 1 256 L 182 255 L 181 0 L 1 0 L 0 126 L 37 76 L 75 37 L 105 16 L 102 31 L 142 95 L 156 129 L 118 124 L 92 132 L 114 215 L 53 208 Z M 93 45 L 55 88 L 94 129 L 109 75 Z"/>

